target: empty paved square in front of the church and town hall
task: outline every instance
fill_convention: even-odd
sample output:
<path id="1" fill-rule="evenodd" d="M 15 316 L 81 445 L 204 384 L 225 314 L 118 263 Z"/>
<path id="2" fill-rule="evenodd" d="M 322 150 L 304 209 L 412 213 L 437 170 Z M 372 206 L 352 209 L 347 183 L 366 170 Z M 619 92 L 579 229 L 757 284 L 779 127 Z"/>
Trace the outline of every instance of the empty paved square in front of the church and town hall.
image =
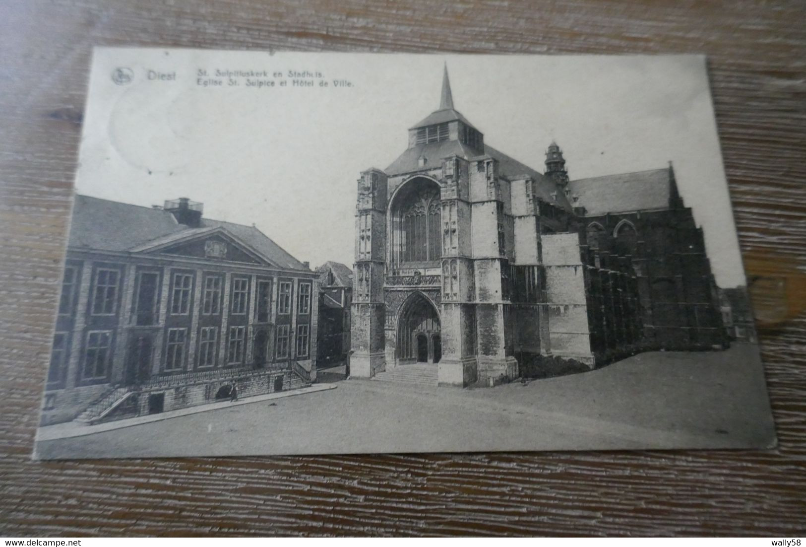
<path id="1" fill-rule="evenodd" d="M 644 353 L 562 378 L 486 389 L 347 380 L 38 445 L 40 457 L 156 457 L 771 444 L 756 348 Z M 334 378 L 338 378 L 334 375 Z"/>

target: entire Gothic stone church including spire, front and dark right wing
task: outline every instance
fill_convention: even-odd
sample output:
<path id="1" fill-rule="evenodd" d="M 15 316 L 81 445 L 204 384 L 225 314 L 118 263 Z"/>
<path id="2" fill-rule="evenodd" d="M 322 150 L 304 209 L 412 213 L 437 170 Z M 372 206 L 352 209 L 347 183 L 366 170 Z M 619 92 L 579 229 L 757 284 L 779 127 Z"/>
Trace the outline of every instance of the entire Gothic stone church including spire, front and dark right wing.
<path id="1" fill-rule="evenodd" d="M 572 181 L 552 143 L 540 173 L 455 110 L 447 69 L 408 148 L 359 177 L 354 271 L 353 377 L 492 386 L 725 343 L 671 164 Z"/>

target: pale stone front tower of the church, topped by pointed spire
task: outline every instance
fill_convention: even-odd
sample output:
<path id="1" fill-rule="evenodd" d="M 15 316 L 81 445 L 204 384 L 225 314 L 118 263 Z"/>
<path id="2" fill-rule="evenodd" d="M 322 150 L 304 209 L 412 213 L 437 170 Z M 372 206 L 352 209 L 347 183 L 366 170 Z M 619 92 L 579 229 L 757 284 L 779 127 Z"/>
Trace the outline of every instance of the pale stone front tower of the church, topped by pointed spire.
<path id="1" fill-rule="evenodd" d="M 437 110 L 409 126 L 392 164 L 359 178 L 353 377 L 434 386 L 517 377 L 508 175 L 541 176 L 484 143 L 456 111 L 445 67 Z"/>

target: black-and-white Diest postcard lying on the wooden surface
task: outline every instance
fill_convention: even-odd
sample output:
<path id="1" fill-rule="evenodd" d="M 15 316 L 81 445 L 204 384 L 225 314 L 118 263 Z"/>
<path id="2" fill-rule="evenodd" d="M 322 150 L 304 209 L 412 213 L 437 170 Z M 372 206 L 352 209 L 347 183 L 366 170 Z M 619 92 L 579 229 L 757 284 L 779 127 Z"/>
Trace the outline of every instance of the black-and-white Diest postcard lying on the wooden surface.
<path id="1" fill-rule="evenodd" d="M 769 448 L 703 56 L 98 48 L 35 457 Z"/>

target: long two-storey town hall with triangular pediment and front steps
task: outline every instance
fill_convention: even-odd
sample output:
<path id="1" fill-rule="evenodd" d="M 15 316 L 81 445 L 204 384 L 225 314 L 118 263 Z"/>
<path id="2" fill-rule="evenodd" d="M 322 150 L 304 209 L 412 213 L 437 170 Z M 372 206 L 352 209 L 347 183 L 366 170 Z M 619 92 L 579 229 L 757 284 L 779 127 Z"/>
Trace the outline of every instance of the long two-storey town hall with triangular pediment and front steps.
<path id="1" fill-rule="evenodd" d="M 318 275 L 188 198 L 77 195 L 42 424 L 120 420 L 310 386 Z"/>

